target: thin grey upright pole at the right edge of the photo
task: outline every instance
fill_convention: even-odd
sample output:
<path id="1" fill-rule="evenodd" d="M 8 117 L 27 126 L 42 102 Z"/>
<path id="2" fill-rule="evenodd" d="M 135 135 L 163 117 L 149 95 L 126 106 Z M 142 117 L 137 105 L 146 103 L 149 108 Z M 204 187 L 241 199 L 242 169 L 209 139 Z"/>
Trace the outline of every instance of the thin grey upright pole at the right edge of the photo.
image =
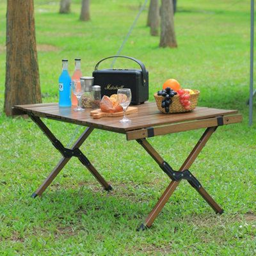
<path id="1" fill-rule="evenodd" d="M 251 54 L 250 54 L 250 99 L 249 99 L 249 126 L 252 125 L 253 107 L 253 45 L 254 45 L 254 0 L 251 0 Z"/>

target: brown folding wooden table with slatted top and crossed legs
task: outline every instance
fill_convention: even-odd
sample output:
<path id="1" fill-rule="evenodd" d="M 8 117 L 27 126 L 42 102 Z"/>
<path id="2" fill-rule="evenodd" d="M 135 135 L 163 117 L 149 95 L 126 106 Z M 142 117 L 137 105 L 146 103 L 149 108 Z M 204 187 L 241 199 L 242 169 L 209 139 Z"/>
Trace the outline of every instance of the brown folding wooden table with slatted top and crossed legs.
<path id="1" fill-rule="evenodd" d="M 81 113 L 73 111 L 73 108 L 60 108 L 58 103 L 51 104 L 30 104 L 13 107 L 13 115 L 28 115 L 37 125 L 42 129 L 47 138 L 52 142 L 54 147 L 60 151 L 63 158 L 52 170 L 49 176 L 44 180 L 42 185 L 33 193 L 32 197 L 41 196 L 45 189 L 51 184 L 52 180 L 58 175 L 61 169 L 68 163 L 71 157 L 77 157 L 79 161 L 92 173 L 92 175 L 100 182 L 100 184 L 107 191 L 112 187 L 100 175 L 95 167 L 90 163 L 88 158 L 81 152 L 79 147 L 84 140 L 88 138 L 93 129 L 102 129 L 110 132 L 118 132 L 126 135 L 127 140 L 136 140 L 145 148 L 148 154 L 159 164 L 160 168 L 172 180 L 169 186 L 164 191 L 161 198 L 158 200 L 156 206 L 146 220 L 137 230 L 145 230 L 149 228 L 157 215 L 163 209 L 164 204 L 172 195 L 173 191 L 179 185 L 180 180 L 186 179 L 193 188 L 204 198 L 204 200 L 212 207 L 212 209 L 221 214 L 223 209 L 213 200 L 213 198 L 205 191 L 202 184 L 189 171 L 191 164 L 209 140 L 216 128 L 221 125 L 234 124 L 242 122 L 241 114 L 236 110 L 214 109 L 214 108 L 200 108 L 196 107 L 191 112 L 164 114 L 159 112 L 156 102 L 145 102 L 138 107 L 138 113 L 132 113 L 129 118 L 132 120 L 129 124 L 122 124 L 118 122 L 121 117 L 102 117 L 93 119 L 90 116 L 92 109 L 86 109 Z M 71 148 L 65 148 L 63 144 L 52 134 L 47 126 L 42 122 L 41 118 L 50 118 L 61 122 L 68 122 L 86 127 L 85 131 L 77 139 Z M 178 171 L 172 169 L 164 159 L 157 153 L 157 151 L 148 143 L 147 138 L 170 134 L 173 132 L 189 131 L 194 129 L 204 128 L 204 134 L 196 143 L 195 147 L 182 164 Z"/>

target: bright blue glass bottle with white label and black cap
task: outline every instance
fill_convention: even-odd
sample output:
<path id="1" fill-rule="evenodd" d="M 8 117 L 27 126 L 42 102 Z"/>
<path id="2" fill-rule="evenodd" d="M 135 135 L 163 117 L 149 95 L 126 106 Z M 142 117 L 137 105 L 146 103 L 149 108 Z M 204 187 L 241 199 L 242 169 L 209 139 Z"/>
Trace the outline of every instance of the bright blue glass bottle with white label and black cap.
<path id="1" fill-rule="evenodd" d="M 68 60 L 62 60 L 62 72 L 59 78 L 59 106 L 71 106 L 71 78 L 68 74 Z"/>

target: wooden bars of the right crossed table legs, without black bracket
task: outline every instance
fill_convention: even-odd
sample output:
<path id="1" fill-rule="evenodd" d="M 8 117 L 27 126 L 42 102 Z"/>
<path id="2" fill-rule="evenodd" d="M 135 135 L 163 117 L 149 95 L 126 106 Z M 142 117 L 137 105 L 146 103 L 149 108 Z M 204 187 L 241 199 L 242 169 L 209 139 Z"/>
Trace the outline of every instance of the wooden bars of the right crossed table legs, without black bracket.
<path id="1" fill-rule="evenodd" d="M 205 143 L 207 143 L 207 141 L 209 140 L 209 138 L 211 137 L 212 133 L 215 130 L 216 130 L 216 127 L 209 127 L 206 129 L 206 131 L 204 132 L 204 134 L 202 135 L 202 137 L 200 138 L 198 143 L 196 143 L 195 147 L 193 148 L 193 150 L 187 157 L 186 161 L 184 161 L 184 163 L 180 167 L 179 172 L 183 172 L 184 170 L 188 169 L 191 166 L 191 164 L 193 164 L 196 157 L 198 156 L 198 154 L 200 153 L 202 148 L 205 146 Z M 163 163 L 165 163 L 163 158 L 161 156 L 159 156 L 159 154 L 148 143 L 148 141 L 146 139 L 140 139 L 137 141 L 142 145 L 143 148 L 145 148 L 145 150 L 148 152 L 148 154 L 150 154 L 150 156 L 152 156 L 152 158 L 159 164 L 159 166 L 161 168 L 163 168 Z M 166 204 L 166 202 L 172 195 L 173 191 L 175 191 L 175 189 L 179 185 L 179 182 L 180 181 L 172 180 L 172 182 L 166 188 L 163 195 L 158 200 L 157 204 L 152 209 L 150 214 L 148 214 L 148 217 L 146 218 L 144 223 L 141 224 L 141 226 L 138 228 L 138 230 L 144 230 L 145 228 L 149 228 L 152 225 L 153 221 L 156 219 L 159 212 L 163 209 L 164 205 Z M 193 186 L 191 181 L 189 181 L 189 183 Z M 205 191 L 205 189 L 202 188 L 201 184 L 200 184 L 200 186 L 198 186 L 198 188 L 195 188 L 195 189 L 196 189 L 196 191 L 198 191 L 198 193 L 200 193 L 200 195 L 212 207 L 212 209 L 214 209 L 214 211 L 216 213 L 220 213 L 220 214 L 223 213 L 223 209 L 221 209 L 221 207 L 213 200 L 213 198 L 207 193 L 207 191 Z"/>

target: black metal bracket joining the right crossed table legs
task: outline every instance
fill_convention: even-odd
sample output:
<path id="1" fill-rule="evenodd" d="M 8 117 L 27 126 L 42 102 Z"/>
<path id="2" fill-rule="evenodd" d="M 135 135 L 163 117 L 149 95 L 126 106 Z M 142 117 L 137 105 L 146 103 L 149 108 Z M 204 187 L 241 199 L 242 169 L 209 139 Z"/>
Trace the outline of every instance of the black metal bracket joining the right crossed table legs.
<path id="1" fill-rule="evenodd" d="M 197 189 L 202 188 L 202 185 L 200 184 L 200 182 L 188 169 L 182 172 L 177 172 L 177 171 L 174 171 L 173 168 L 166 162 L 163 162 L 163 164 L 160 167 L 172 180 L 175 180 L 175 181 L 180 181 L 182 179 L 188 180 L 191 186 L 193 186 L 193 188 L 197 188 Z"/>

